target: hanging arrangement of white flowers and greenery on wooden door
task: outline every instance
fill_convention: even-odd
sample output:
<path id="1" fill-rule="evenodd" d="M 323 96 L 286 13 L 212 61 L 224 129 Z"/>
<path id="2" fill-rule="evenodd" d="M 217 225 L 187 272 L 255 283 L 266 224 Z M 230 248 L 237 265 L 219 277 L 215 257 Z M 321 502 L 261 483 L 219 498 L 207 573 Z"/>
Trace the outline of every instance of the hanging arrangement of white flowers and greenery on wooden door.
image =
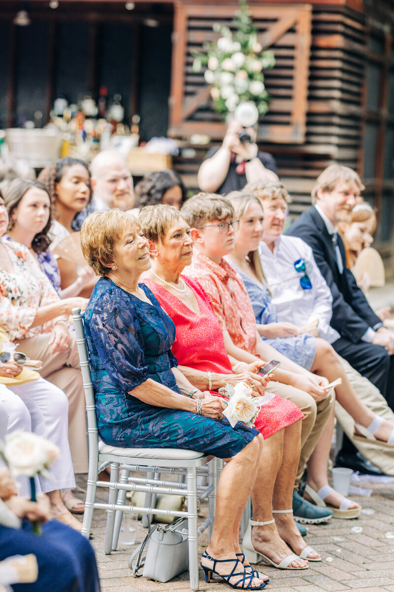
<path id="1" fill-rule="evenodd" d="M 225 25 L 213 25 L 220 37 L 216 43 L 204 44 L 204 53 L 193 54 L 193 70 L 200 72 L 206 66 L 204 79 L 212 85 L 215 111 L 231 113 L 240 103 L 251 101 L 263 115 L 269 100 L 263 70 L 275 65 L 275 56 L 271 50 L 262 51 L 246 0 L 240 0 L 233 25 L 234 33 Z"/>

